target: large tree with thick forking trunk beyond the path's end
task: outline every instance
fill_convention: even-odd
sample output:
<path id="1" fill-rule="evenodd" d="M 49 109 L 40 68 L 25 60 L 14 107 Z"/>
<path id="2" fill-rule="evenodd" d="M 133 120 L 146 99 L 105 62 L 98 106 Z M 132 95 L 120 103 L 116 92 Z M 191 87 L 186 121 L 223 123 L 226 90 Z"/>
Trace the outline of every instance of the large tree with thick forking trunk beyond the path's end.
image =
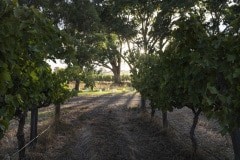
<path id="1" fill-rule="evenodd" d="M 117 1 L 95 1 L 96 8 L 101 18 L 102 30 L 108 37 L 108 50 L 102 54 L 100 65 L 110 69 L 114 74 L 114 82 L 119 83 L 124 46 L 127 39 L 136 36 L 133 24 L 126 19 L 127 11 Z M 104 62 L 104 63 L 103 63 Z M 128 61 L 127 61 L 128 62 Z"/>

